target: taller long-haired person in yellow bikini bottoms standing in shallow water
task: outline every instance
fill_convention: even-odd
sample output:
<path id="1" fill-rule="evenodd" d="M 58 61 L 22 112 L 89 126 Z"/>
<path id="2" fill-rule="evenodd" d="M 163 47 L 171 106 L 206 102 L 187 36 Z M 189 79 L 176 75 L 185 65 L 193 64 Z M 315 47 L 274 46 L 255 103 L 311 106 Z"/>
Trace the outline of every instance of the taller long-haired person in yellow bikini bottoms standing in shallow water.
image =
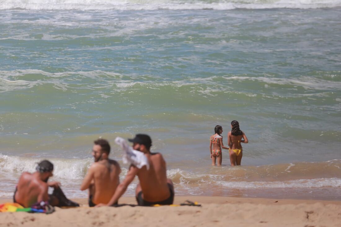
<path id="1" fill-rule="evenodd" d="M 243 148 L 241 143 L 249 143 L 246 135 L 239 129 L 239 123 L 236 120 L 231 121 L 231 132 L 227 134 L 227 143 L 230 147 L 231 166 L 240 165 L 243 157 Z M 244 140 L 241 140 L 244 139 Z"/>

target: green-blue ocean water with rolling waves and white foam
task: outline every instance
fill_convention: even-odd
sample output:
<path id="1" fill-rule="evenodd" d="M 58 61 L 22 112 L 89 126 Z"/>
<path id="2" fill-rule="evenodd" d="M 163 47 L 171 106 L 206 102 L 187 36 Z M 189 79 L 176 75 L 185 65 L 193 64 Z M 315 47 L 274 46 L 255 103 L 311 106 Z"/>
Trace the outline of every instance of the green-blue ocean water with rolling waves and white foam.
<path id="1" fill-rule="evenodd" d="M 177 195 L 340 200 L 340 17 L 341 0 L 0 0 L 0 196 L 50 159 L 86 197 L 93 141 L 121 160 L 115 137 L 148 133 Z M 232 120 L 242 165 L 212 167 Z"/>

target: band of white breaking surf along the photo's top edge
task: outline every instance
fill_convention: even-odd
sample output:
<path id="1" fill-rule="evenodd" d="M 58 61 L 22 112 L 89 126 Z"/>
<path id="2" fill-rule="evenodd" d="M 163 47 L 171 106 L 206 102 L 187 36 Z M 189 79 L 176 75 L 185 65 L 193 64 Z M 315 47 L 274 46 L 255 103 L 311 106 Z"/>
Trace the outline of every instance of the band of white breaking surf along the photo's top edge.
<path id="1" fill-rule="evenodd" d="M 233 9 L 318 9 L 340 7 L 340 0 L 1 0 L 0 9 L 27 10 L 233 10 Z"/>

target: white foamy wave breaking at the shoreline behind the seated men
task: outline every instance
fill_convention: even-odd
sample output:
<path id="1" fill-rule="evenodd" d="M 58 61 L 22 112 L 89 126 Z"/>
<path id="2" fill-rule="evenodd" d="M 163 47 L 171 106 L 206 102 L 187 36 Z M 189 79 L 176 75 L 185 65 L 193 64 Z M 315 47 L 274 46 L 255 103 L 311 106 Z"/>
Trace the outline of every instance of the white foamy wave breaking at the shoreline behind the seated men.
<path id="1" fill-rule="evenodd" d="M 13 194 L 13 189 L 17 182 L 17 179 L 21 172 L 28 171 L 34 172 L 34 168 L 36 166 L 36 162 L 41 160 L 38 157 L 23 157 L 23 156 L 7 156 L 0 154 L 0 176 L 2 181 L 4 182 L 2 188 L 0 190 L 0 196 L 10 197 Z M 75 198 L 75 197 L 86 197 L 85 192 L 79 191 L 79 185 L 81 181 L 84 179 L 84 176 L 89 168 L 90 164 L 93 162 L 92 159 L 50 159 L 51 162 L 54 163 L 54 177 L 53 180 L 58 180 L 62 183 L 63 190 L 66 195 Z M 339 163 L 340 160 L 331 160 L 325 162 L 327 165 L 334 165 Z M 303 163 L 303 165 L 310 163 Z M 316 163 L 311 163 L 312 165 L 316 165 Z M 323 164 L 323 163 L 320 163 Z M 278 166 L 277 171 L 282 172 L 288 171 L 289 168 L 294 167 L 297 164 L 290 163 L 283 169 L 282 165 Z M 338 167 L 337 165 L 336 167 Z M 256 171 L 260 171 L 260 173 L 264 172 L 264 167 L 259 166 L 260 168 Z M 277 167 L 276 167 L 277 168 Z M 275 168 L 275 169 L 276 169 Z M 285 168 L 285 167 L 284 167 Z M 244 174 L 243 179 L 240 177 L 234 177 L 234 175 L 238 175 L 238 172 L 254 172 L 255 169 L 252 167 L 244 167 L 240 168 L 228 168 L 228 173 L 231 176 L 226 176 L 225 168 L 217 168 L 217 170 L 213 173 L 194 173 L 191 171 L 183 170 L 180 168 L 169 169 L 167 170 L 167 177 L 172 179 L 176 193 L 178 195 L 200 195 L 205 194 L 205 189 L 207 187 L 226 187 L 228 189 L 285 189 L 285 188 L 297 188 L 297 189 L 317 189 L 317 188 L 340 188 L 341 187 L 341 178 L 314 178 L 314 179 L 295 179 L 291 180 L 290 178 L 282 181 L 246 181 L 251 180 Z M 128 169 L 122 167 L 122 173 L 120 174 L 120 180 L 122 181 L 127 174 Z M 273 173 L 276 175 L 276 171 Z M 134 191 L 137 185 L 137 178 L 132 182 L 132 184 L 128 187 L 126 196 L 133 196 Z"/>

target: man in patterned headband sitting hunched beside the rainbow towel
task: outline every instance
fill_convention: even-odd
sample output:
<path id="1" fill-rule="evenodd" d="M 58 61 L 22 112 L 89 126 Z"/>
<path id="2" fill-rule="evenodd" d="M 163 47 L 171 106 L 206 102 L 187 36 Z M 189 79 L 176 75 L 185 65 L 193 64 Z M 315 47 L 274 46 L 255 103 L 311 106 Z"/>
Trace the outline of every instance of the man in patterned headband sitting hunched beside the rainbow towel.
<path id="1" fill-rule="evenodd" d="M 48 182 L 48 178 L 53 176 L 53 164 L 48 160 L 38 163 L 33 174 L 24 172 L 19 178 L 15 188 L 13 201 L 23 207 L 31 207 L 37 202 L 44 201 L 46 204 L 58 207 L 78 207 L 76 202 L 67 199 L 60 189 L 57 181 Z M 52 195 L 48 195 L 48 187 L 53 187 Z"/>

